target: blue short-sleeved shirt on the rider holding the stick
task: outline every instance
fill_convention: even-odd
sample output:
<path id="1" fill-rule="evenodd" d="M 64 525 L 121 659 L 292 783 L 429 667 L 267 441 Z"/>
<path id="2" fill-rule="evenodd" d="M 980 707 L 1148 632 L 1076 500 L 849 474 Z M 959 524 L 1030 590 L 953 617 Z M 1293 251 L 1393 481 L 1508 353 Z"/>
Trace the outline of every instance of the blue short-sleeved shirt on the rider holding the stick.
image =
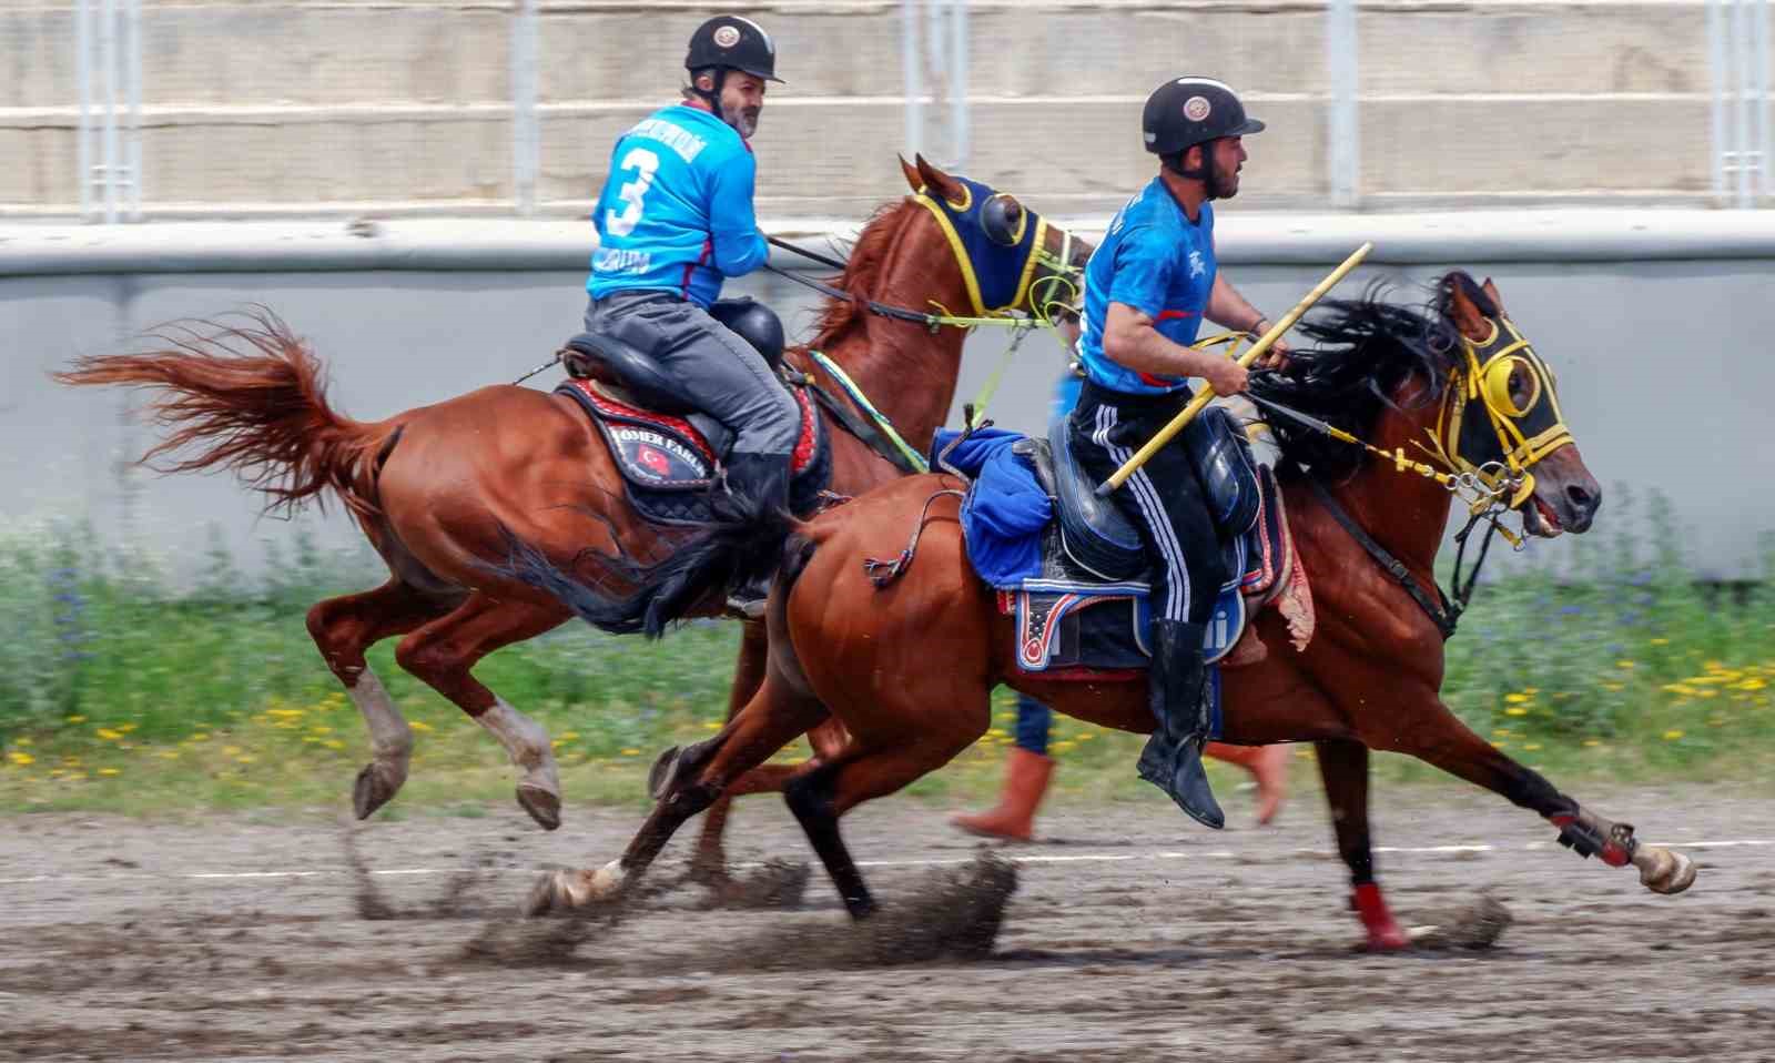
<path id="1" fill-rule="evenodd" d="M 1109 222 L 1109 232 L 1085 266 L 1085 325 L 1079 362 L 1092 383 L 1129 394 L 1164 394 L 1189 385 L 1182 376 L 1156 376 L 1118 366 L 1104 355 L 1109 303 L 1152 318 L 1159 335 L 1180 344 L 1196 341 L 1202 312 L 1214 289 L 1214 208 L 1202 204 L 1191 222 L 1161 177 L 1141 188 Z"/>

